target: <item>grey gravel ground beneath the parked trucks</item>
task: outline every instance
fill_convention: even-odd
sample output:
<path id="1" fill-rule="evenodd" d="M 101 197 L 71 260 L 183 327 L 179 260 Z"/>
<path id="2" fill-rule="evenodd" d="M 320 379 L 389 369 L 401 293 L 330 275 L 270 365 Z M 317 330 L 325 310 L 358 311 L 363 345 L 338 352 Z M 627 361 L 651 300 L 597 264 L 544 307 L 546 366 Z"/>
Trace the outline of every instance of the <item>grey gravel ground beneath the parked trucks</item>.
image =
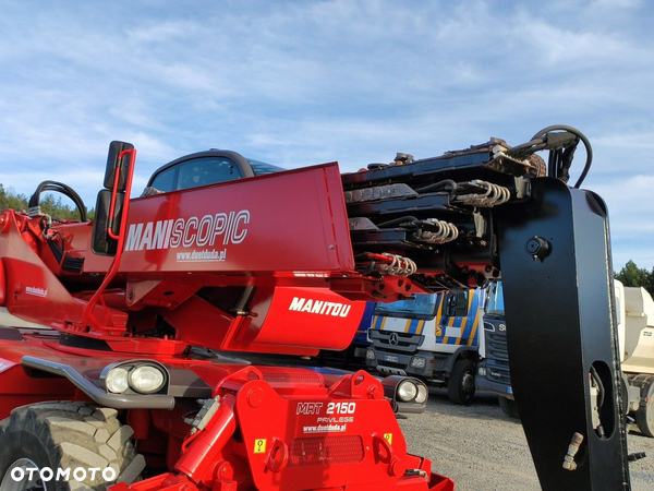
<path id="1" fill-rule="evenodd" d="M 505 416 L 491 394 L 482 393 L 464 407 L 432 388 L 427 410 L 410 415 L 400 426 L 409 451 L 429 458 L 434 472 L 451 478 L 457 491 L 541 489 L 520 422 Z M 647 454 L 630 464 L 632 491 L 652 491 L 654 439 L 634 430 L 628 445 L 631 453 Z"/>

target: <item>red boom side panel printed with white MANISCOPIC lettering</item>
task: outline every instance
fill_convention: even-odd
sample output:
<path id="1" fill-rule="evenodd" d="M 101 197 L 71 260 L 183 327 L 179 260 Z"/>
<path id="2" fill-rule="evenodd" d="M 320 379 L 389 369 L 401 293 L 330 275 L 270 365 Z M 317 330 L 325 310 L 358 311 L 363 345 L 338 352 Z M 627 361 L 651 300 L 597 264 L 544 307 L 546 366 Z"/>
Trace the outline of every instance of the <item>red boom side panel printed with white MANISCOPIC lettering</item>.
<path id="1" fill-rule="evenodd" d="M 120 271 L 353 268 L 340 173 L 327 164 L 134 200 Z"/>

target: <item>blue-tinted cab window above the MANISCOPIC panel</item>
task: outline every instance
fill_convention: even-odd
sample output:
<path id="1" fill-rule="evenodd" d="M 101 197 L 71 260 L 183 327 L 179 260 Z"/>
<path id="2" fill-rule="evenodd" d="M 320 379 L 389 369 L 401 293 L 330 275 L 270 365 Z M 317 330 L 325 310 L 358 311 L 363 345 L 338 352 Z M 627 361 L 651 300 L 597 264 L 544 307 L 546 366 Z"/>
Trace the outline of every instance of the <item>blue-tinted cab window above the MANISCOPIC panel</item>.
<path id="1" fill-rule="evenodd" d="M 168 192 L 233 181 L 242 177 L 239 167 L 228 158 L 202 157 L 162 170 L 150 185 Z"/>

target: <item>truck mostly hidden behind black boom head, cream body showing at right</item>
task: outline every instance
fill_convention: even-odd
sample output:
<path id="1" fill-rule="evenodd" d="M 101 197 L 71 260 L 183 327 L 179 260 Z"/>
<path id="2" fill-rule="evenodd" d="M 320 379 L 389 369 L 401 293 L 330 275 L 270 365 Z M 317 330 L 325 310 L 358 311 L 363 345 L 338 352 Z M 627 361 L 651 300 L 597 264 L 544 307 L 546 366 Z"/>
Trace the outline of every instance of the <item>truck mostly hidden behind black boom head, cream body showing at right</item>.
<path id="1" fill-rule="evenodd" d="M 625 415 L 635 421 L 639 431 L 654 436 L 654 301 L 642 287 L 626 287 L 614 280 L 614 301 L 620 348 L 620 391 Z M 484 361 L 480 363 L 476 387 L 497 394 L 499 407 L 509 417 L 519 418 L 511 387 L 501 282 L 489 287 L 484 311 L 486 337 Z"/>

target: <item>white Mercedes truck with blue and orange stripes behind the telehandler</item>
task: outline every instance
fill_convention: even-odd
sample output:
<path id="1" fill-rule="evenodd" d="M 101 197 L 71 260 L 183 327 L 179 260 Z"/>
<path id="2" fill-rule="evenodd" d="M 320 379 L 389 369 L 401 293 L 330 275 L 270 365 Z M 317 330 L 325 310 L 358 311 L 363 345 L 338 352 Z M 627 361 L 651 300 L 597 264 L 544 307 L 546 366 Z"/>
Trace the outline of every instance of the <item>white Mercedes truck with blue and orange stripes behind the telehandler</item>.
<path id="1" fill-rule="evenodd" d="M 480 360 L 483 299 L 482 289 L 470 289 L 377 303 L 368 331 L 367 367 L 445 385 L 453 404 L 470 404 Z"/>

